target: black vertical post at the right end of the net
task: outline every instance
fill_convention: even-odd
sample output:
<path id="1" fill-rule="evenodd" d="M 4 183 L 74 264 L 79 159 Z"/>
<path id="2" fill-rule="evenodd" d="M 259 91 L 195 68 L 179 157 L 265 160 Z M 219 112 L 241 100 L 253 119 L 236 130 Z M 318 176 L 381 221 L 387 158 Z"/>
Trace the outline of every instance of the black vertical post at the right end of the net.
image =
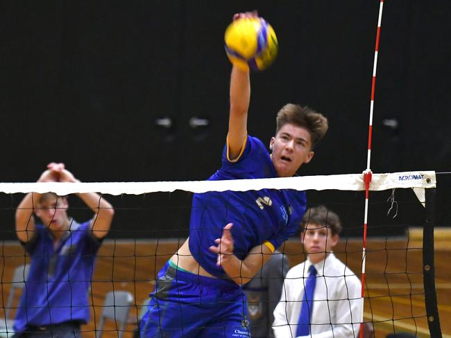
<path id="1" fill-rule="evenodd" d="M 434 213 L 435 188 L 425 189 L 426 220 L 423 227 L 423 285 L 425 287 L 425 306 L 427 326 L 431 337 L 441 338 L 439 309 L 437 307 L 437 294 L 435 289 L 434 267 Z"/>

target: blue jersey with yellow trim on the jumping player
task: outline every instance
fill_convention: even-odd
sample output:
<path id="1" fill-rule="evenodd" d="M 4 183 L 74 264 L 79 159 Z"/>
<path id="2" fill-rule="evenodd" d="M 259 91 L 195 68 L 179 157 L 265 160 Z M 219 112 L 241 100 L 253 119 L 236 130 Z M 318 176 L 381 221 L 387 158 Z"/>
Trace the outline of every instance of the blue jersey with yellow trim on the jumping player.
<path id="1" fill-rule="evenodd" d="M 269 152 L 259 139 L 248 136 L 241 157 L 228 160 L 227 145 L 222 167 L 214 180 L 278 177 Z M 194 194 L 189 224 L 189 250 L 194 259 L 216 278 L 228 278 L 208 249 L 221 238 L 226 224 L 233 223 L 234 253 L 243 260 L 253 247 L 268 241 L 274 248 L 296 233 L 306 208 L 305 191 L 249 190 Z"/>

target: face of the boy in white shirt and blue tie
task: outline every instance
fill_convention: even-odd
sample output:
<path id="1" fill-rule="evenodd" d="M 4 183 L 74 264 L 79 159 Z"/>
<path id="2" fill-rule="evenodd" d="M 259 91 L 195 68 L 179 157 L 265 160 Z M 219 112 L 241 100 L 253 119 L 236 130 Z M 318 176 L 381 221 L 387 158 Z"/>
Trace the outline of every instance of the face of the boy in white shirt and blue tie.
<path id="1" fill-rule="evenodd" d="M 324 260 L 339 240 L 338 235 L 332 235 L 332 231 L 320 224 L 307 224 L 305 231 L 300 233 L 300 240 L 304 245 L 304 251 L 312 263 L 316 264 Z"/>

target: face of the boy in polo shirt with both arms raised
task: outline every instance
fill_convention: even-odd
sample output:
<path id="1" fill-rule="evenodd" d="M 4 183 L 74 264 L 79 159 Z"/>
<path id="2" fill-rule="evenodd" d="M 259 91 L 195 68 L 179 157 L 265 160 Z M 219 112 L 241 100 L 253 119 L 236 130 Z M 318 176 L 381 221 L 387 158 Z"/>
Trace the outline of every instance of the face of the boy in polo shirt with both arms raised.
<path id="1" fill-rule="evenodd" d="M 66 230 L 68 206 L 65 197 L 48 197 L 38 204 L 36 215 L 51 231 Z"/>

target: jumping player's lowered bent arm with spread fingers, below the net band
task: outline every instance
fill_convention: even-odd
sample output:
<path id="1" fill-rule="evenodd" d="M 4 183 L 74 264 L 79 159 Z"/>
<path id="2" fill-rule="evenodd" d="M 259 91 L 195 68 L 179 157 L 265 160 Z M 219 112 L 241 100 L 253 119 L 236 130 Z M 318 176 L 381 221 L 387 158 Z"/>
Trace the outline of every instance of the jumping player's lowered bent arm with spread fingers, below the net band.
<path id="1" fill-rule="evenodd" d="M 221 265 L 235 283 L 244 285 L 257 274 L 259 269 L 262 269 L 273 252 L 265 244 L 261 244 L 250 249 L 248 256 L 240 260 L 233 254 L 233 238 L 230 232 L 232 226 L 232 223 L 224 226 L 222 237 L 214 241 L 217 247 L 212 245 L 210 251 L 218 255 L 216 265 Z"/>

